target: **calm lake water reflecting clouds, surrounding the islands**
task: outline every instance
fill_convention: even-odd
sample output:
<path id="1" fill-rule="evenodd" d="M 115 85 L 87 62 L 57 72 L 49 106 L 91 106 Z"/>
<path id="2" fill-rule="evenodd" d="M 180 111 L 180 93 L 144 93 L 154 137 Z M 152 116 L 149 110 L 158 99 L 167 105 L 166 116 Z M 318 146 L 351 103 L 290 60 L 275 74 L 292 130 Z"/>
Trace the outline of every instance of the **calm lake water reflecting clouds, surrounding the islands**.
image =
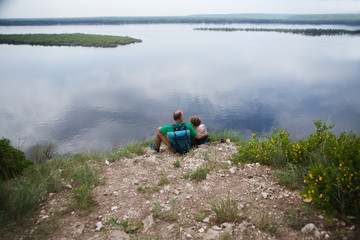
<path id="1" fill-rule="evenodd" d="M 176 109 L 187 121 L 199 115 L 209 130 L 279 126 L 299 138 L 324 119 L 337 134 L 360 132 L 359 36 L 193 30 L 199 26 L 0 27 L 143 40 L 108 49 L 0 45 L 0 137 L 22 150 L 51 141 L 60 153 L 108 151 L 154 136 Z"/>

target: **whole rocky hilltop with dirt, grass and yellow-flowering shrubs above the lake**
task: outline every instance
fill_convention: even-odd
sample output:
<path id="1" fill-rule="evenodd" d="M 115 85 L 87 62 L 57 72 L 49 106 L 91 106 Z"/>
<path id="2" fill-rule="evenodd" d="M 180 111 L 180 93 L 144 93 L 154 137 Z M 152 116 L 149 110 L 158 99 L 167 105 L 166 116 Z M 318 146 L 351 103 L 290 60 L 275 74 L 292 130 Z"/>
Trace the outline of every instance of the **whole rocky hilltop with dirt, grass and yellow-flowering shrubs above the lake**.
<path id="1" fill-rule="evenodd" d="M 38 164 L 0 182 L 0 235 L 303 239 L 300 230 L 314 223 L 324 238 L 356 239 L 360 138 L 314 125 L 299 140 L 278 128 L 261 139 L 212 132 L 209 144 L 186 155 L 166 147 L 155 153 L 150 141 L 102 154 L 57 156 L 49 154 L 52 145 L 38 148 Z M 1 172 L 8 148 L 0 148 Z"/>

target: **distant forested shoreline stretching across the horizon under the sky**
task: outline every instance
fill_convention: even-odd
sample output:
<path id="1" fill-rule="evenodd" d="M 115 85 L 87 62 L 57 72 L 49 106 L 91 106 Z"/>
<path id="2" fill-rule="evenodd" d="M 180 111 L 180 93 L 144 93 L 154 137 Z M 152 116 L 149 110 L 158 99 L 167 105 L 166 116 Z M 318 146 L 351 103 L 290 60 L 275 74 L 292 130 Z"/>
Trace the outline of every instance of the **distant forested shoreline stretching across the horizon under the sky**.
<path id="1" fill-rule="evenodd" d="M 0 26 L 116 24 L 331 24 L 360 26 L 360 14 L 204 14 L 164 17 L 89 17 L 0 19 Z"/>

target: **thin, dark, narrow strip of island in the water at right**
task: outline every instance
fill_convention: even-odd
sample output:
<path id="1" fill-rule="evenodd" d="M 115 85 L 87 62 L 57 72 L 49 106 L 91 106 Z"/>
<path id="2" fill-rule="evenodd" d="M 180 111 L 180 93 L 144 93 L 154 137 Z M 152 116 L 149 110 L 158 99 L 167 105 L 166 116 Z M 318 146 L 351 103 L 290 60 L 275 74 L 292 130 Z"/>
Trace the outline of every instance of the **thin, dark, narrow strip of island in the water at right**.
<path id="1" fill-rule="evenodd" d="M 306 36 L 333 36 L 333 35 L 360 35 L 360 30 L 346 30 L 346 29 L 285 29 L 285 28 L 194 28 L 198 31 L 223 31 L 223 32 L 278 32 L 278 33 L 293 33 Z"/>

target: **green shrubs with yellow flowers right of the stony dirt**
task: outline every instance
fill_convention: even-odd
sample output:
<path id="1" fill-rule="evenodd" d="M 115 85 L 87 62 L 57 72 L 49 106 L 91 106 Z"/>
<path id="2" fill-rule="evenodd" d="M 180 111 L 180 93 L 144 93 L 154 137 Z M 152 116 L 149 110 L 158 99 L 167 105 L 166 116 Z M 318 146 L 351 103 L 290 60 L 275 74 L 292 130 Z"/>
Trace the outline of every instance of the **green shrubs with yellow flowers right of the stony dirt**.
<path id="1" fill-rule="evenodd" d="M 264 139 L 253 135 L 230 159 L 234 164 L 260 162 L 280 170 L 274 175 L 291 187 L 305 183 L 302 196 L 329 214 L 360 216 L 360 138 L 332 133 L 333 125 L 314 121 L 315 133 L 293 140 L 275 128 Z M 292 182 L 292 183 L 291 183 Z"/>

